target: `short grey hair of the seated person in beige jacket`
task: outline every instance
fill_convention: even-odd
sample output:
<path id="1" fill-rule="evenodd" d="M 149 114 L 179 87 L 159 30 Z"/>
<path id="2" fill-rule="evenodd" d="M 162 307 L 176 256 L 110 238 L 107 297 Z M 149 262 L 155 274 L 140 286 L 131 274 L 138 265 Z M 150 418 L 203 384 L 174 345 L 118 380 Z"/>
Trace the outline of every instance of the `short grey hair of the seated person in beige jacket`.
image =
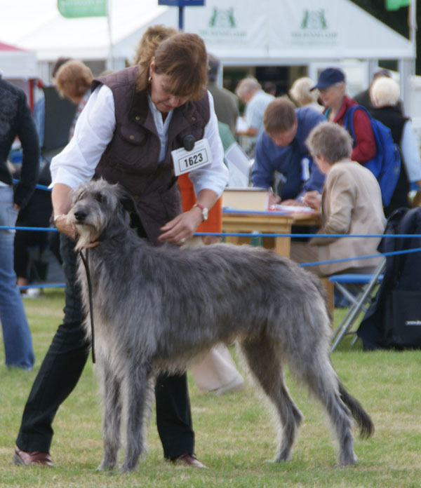
<path id="1" fill-rule="evenodd" d="M 321 122 L 309 133 L 305 142 L 313 157 L 322 156 L 330 164 L 349 158 L 352 152 L 352 137 L 333 122 Z"/>

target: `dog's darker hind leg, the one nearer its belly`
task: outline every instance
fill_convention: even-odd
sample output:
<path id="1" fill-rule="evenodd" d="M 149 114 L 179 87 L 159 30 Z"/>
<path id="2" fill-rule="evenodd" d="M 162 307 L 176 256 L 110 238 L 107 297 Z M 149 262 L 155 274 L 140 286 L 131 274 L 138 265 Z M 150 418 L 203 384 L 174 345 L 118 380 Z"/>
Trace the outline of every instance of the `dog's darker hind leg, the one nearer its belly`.
<path id="1" fill-rule="evenodd" d="M 281 440 L 274 460 L 286 461 L 290 457 L 302 414 L 290 398 L 283 382 L 280 355 L 267 337 L 246 340 L 240 345 L 251 372 L 274 403 L 281 421 Z"/>

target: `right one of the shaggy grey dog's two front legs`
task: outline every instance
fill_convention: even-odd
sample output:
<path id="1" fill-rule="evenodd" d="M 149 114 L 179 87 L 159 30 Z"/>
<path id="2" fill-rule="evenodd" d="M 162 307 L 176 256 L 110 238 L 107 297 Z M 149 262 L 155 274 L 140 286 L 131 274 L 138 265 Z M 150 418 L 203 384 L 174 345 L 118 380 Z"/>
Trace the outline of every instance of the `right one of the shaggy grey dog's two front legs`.
<path id="1" fill-rule="evenodd" d="M 124 407 L 126 410 L 126 449 L 121 471 L 131 471 L 145 451 L 143 428 L 149 398 L 150 367 L 128 365 L 123 381 Z"/>

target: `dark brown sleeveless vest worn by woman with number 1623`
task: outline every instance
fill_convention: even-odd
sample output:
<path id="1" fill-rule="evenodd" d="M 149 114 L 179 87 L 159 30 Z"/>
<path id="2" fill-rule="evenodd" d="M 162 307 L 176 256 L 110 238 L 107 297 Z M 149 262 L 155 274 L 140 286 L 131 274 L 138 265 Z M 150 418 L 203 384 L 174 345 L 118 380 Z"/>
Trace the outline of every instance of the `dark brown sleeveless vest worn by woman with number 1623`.
<path id="1" fill-rule="evenodd" d="M 160 149 L 147 92 L 135 90 L 138 67 L 121 69 L 92 83 L 92 90 L 107 85 L 114 96 L 116 129 L 95 170 L 95 177 L 119 183 L 133 196 L 148 238 L 157 244 L 163 224 L 180 214 L 180 191 L 171 151 L 182 147 L 186 135 L 203 138 L 210 117 L 208 95 L 174 109 L 168 128 L 166 156 L 158 164 Z"/>

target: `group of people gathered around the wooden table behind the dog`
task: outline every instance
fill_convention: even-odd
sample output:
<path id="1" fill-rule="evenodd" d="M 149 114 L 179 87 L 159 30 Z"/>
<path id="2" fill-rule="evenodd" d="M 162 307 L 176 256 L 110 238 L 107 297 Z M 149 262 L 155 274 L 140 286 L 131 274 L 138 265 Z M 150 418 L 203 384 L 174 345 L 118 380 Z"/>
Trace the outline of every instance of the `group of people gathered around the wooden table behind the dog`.
<path id="1" fill-rule="evenodd" d="M 265 109 L 264 131 L 255 142 L 252 184 L 269 190 L 272 205 L 307 205 L 321 212 L 319 233 L 381 234 L 394 210 L 410 206 L 410 184 L 420 188 L 420 154 L 399 93 L 399 84 L 385 70 L 373 76 L 370 103 L 364 108 L 347 95 L 345 74 L 338 68 L 323 69 L 316 82 L 308 77 L 296 80 L 289 98 L 277 97 Z M 364 101 L 366 95 L 364 91 L 357 98 Z M 399 179 L 387 205 L 381 194 L 378 198 L 377 179 L 364 168 L 377 151 L 370 117 L 390 129 L 401 154 Z M 354 138 L 347 132 L 351 124 Z M 358 238 L 314 237 L 302 243 L 293 239 L 290 255 L 299 263 L 375 255 L 378 241 L 369 239 L 363 244 Z M 355 259 L 309 270 L 319 276 L 372 273 L 378 262 L 377 258 Z"/>

